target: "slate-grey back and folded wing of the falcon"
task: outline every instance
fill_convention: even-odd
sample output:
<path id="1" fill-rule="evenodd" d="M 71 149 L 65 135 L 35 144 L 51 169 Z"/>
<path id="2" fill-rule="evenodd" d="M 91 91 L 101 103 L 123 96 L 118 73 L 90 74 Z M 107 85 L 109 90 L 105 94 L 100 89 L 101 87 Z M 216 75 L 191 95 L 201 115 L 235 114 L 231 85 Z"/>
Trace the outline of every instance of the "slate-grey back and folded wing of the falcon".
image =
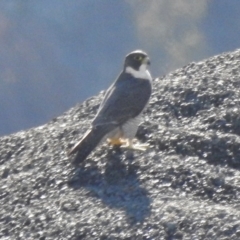
<path id="1" fill-rule="evenodd" d="M 138 116 L 147 105 L 152 91 L 151 81 L 134 78 L 122 72 L 108 89 L 93 126 L 102 124 L 123 125 Z"/>

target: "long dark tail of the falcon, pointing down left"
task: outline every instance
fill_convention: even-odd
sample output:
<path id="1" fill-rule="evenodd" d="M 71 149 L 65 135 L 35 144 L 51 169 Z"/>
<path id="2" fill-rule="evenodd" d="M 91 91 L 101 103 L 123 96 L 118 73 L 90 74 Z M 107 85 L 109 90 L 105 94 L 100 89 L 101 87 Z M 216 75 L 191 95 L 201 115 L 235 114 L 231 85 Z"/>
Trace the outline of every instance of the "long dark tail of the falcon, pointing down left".
<path id="1" fill-rule="evenodd" d="M 72 163 L 79 164 L 83 162 L 109 131 L 111 129 L 106 126 L 97 126 L 89 130 L 68 153 L 68 155 L 72 155 L 77 152 Z"/>

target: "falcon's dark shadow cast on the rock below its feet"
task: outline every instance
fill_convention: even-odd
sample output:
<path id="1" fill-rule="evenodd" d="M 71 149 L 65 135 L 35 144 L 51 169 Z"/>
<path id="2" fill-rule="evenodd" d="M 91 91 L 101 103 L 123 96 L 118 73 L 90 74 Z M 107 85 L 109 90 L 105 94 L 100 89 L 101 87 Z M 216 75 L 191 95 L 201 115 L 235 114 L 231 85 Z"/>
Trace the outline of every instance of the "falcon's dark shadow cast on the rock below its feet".
<path id="1" fill-rule="evenodd" d="M 86 188 L 91 197 L 101 199 L 109 207 L 124 210 L 131 224 L 142 222 L 150 213 L 150 198 L 141 186 L 133 159 L 130 153 L 109 151 L 102 173 L 92 165 L 76 168 L 69 186 L 75 190 Z"/>

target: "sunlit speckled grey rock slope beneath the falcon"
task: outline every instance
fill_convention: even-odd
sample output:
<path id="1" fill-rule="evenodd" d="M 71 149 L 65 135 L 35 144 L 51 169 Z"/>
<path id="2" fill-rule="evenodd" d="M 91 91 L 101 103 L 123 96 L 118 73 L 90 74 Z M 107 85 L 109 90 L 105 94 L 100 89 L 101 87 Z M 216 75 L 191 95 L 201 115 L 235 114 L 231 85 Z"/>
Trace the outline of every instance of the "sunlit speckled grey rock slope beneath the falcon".
<path id="1" fill-rule="evenodd" d="M 0 239 L 240 239 L 240 50 L 154 80 L 147 151 L 74 167 L 102 96 L 0 138 Z"/>

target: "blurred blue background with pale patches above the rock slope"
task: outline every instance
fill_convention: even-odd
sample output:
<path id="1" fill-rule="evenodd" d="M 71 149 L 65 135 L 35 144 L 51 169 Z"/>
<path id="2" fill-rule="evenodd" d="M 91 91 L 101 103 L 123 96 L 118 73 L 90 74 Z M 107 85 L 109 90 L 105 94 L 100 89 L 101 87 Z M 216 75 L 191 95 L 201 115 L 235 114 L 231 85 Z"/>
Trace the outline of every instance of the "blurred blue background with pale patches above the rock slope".
<path id="1" fill-rule="evenodd" d="M 239 45 L 239 0 L 2 0 L 0 135 L 106 89 L 132 50 L 157 77 Z"/>

